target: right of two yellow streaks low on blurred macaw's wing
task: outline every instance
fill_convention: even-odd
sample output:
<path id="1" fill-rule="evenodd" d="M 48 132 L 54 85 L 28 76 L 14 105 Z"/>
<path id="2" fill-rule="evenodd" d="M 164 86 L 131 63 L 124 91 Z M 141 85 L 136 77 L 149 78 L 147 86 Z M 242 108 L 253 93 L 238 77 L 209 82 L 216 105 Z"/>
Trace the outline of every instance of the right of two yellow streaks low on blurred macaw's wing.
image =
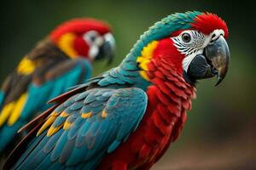
<path id="1" fill-rule="evenodd" d="M 14 109 L 11 115 L 9 116 L 9 119 L 7 122 L 9 126 L 13 126 L 15 122 L 17 122 L 17 120 L 20 118 L 20 113 L 24 108 L 26 99 L 27 99 L 27 93 L 22 94 L 20 98 L 17 100 L 17 102 L 15 103 Z"/>

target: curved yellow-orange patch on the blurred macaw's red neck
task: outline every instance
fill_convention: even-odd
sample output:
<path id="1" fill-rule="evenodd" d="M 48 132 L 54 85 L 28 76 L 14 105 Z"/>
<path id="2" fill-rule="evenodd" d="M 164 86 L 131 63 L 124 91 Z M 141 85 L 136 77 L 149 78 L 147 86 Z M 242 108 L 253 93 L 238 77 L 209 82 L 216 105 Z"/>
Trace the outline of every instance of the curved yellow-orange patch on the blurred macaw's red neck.
<path id="1" fill-rule="evenodd" d="M 66 33 L 61 36 L 58 46 L 64 51 L 69 57 L 75 58 L 78 56 L 78 53 L 73 48 L 73 40 L 75 39 L 75 35 L 73 33 Z"/>

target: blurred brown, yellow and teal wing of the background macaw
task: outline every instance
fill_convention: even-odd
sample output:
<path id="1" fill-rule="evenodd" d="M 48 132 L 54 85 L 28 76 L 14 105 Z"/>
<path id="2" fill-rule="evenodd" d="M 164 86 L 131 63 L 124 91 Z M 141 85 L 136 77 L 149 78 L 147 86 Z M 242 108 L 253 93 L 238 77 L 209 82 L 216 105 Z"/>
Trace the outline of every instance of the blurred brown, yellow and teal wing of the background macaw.
<path id="1" fill-rule="evenodd" d="M 49 70 L 38 68 L 38 71 L 36 68 L 34 73 L 26 76 L 13 73 L 4 82 L 0 91 L 0 138 L 4 139 L 0 142 L 0 151 L 15 137 L 20 127 L 52 106 L 46 105 L 49 99 L 85 82 L 91 74 L 91 66 L 85 59 L 59 59 L 51 62 L 50 66 Z M 75 109 L 79 105 L 73 107 Z"/>

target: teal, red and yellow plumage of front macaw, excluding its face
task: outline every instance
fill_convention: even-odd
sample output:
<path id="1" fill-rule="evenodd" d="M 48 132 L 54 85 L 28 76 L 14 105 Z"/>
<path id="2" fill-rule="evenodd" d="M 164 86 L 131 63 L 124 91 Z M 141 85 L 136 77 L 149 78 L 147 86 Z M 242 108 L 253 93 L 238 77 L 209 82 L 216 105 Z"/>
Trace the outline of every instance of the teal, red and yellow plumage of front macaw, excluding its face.
<path id="1" fill-rule="evenodd" d="M 175 31 L 191 28 L 191 22 L 200 14 L 172 14 L 157 22 L 118 67 L 52 99 L 58 107 L 44 114 L 50 118 L 55 112 L 65 111 L 68 116 L 64 118 L 71 117 L 71 127 L 50 134 L 47 128 L 38 137 L 35 133 L 39 127 L 35 127 L 10 156 L 6 168 L 13 166 L 16 157 L 20 157 L 16 168 L 29 166 L 32 154 L 42 150 L 34 144 L 44 144 L 44 139 L 55 141 L 59 133 L 54 149 L 48 149 L 50 156 L 44 153 L 32 166 L 101 170 L 152 167 L 177 139 L 186 111 L 191 108 L 190 100 L 195 99 L 194 84 L 183 77 L 184 56 L 169 37 Z M 58 119 L 55 121 L 60 124 Z M 26 149 L 32 153 L 26 151 L 20 156 L 18 151 L 27 144 L 33 147 Z"/>

